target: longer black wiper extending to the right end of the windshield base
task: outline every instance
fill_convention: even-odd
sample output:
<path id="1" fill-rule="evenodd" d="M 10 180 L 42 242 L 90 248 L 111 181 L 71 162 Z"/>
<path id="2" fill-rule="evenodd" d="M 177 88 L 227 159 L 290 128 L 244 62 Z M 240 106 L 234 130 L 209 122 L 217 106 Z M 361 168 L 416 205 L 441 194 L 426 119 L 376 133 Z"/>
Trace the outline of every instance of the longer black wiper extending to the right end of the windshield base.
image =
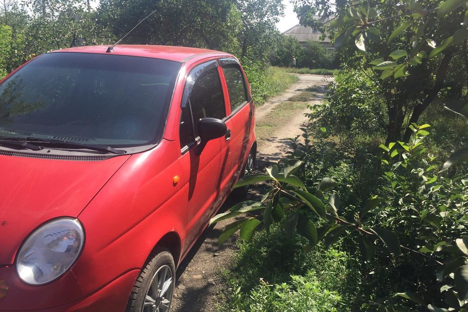
<path id="1" fill-rule="evenodd" d="M 40 150 L 43 147 L 46 147 L 44 145 L 47 145 L 47 147 L 62 147 L 62 148 L 85 148 L 85 149 L 91 149 L 91 150 L 96 150 L 96 151 L 101 151 L 101 152 L 106 152 L 106 153 L 112 153 L 112 154 L 118 154 L 122 155 L 126 153 L 125 150 L 122 149 L 115 149 L 110 147 L 109 145 L 94 145 L 94 144 L 83 144 L 83 143 L 77 143 L 77 142 L 67 142 L 67 141 L 61 141 L 61 140 L 53 140 L 53 139 L 42 139 L 42 138 L 37 138 L 37 137 L 5 137 L 1 138 L 0 142 L 4 141 L 5 144 L 11 144 L 11 145 L 16 145 L 16 146 L 23 146 L 25 148 L 36 148 L 33 150 Z M 25 144 L 27 144 L 25 146 Z M 31 147 L 33 148 L 31 148 Z"/>

